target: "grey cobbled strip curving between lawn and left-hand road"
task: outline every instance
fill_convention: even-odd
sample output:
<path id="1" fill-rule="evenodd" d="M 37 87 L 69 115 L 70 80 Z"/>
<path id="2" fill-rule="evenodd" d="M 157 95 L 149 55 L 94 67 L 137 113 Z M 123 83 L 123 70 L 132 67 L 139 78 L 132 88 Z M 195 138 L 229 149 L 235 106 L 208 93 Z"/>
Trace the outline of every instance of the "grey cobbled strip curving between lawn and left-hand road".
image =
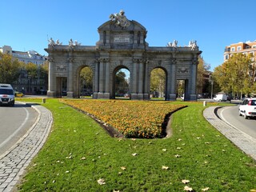
<path id="1" fill-rule="evenodd" d="M 32 106 L 38 118 L 30 130 L 10 150 L 0 156 L 0 192 L 14 191 L 26 167 L 42 148 L 53 122 L 50 110 Z"/>

